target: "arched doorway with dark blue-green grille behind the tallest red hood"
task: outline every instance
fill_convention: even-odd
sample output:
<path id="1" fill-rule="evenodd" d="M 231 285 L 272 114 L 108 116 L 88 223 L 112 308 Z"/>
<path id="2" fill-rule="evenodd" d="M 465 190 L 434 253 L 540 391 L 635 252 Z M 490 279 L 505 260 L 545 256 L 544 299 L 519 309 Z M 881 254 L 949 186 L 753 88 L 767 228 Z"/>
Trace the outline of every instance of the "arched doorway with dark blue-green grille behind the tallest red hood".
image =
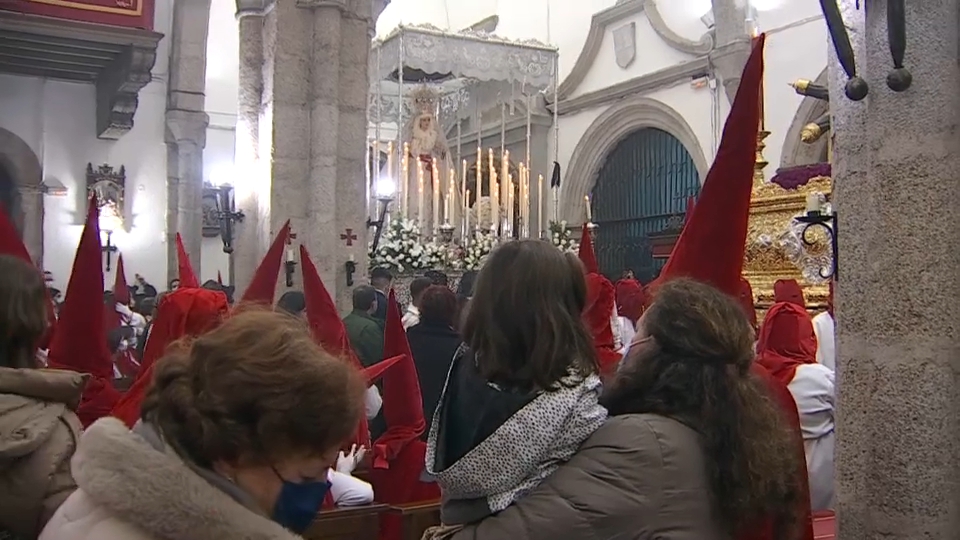
<path id="1" fill-rule="evenodd" d="M 617 277 L 630 268 L 647 283 L 665 261 L 653 258 L 649 235 L 682 219 L 687 198 L 700 192 L 700 174 L 676 137 L 656 128 L 628 135 L 610 152 L 593 188 L 600 270 Z"/>

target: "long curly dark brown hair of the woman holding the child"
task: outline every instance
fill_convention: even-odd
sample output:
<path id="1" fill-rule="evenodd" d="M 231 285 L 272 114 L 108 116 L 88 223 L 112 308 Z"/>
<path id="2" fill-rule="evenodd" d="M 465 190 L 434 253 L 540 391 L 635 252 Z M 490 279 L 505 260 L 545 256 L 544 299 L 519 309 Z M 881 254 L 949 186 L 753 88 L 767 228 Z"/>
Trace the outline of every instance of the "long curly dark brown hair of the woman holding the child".
<path id="1" fill-rule="evenodd" d="M 753 329 L 733 298 L 691 280 L 666 283 L 601 403 L 611 415 L 653 413 L 696 429 L 717 519 L 735 536 L 768 517 L 776 538 L 797 535 L 795 435 L 751 374 Z M 641 338 L 642 339 L 642 338 Z"/>

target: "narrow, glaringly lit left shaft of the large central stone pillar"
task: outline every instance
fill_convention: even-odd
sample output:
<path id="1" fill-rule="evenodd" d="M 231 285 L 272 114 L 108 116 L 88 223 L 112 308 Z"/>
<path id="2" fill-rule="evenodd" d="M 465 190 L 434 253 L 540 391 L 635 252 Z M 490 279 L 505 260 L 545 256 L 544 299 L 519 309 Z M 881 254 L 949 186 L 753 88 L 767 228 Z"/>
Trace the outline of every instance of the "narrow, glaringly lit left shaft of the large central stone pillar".
<path id="1" fill-rule="evenodd" d="M 235 197 L 243 211 L 232 257 L 237 291 L 246 290 L 270 243 L 271 178 L 260 160 L 260 110 L 263 100 L 264 0 L 238 0 L 240 27 L 240 88 L 234 152 Z M 269 150 L 269 148 L 268 148 Z M 269 154 L 268 154 L 269 155 Z"/>

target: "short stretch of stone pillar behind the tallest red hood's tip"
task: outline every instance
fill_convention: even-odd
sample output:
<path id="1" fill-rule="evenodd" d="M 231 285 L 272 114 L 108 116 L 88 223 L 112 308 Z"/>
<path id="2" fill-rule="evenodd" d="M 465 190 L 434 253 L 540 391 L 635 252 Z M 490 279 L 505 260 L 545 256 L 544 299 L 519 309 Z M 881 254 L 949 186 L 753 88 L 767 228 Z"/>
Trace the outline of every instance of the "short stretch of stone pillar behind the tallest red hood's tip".
<path id="1" fill-rule="evenodd" d="M 750 57 L 747 13 L 742 0 L 713 0 L 714 48 L 710 63 L 720 79 L 727 99 L 733 103 L 740 87 L 740 75 Z"/>

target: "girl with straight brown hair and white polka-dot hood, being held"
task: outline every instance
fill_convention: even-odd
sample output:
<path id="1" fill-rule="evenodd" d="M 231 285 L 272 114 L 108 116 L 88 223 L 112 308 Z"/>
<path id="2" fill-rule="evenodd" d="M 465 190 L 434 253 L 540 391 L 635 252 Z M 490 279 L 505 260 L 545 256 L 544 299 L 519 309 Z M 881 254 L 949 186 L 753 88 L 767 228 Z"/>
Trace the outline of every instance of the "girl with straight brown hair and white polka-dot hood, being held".
<path id="1" fill-rule="evenodd" d="M 520 500 L 607 417 L 576 256 L 508 242 L 474 293 L 427 443 L 444 495 L 440 536 Z"/>

